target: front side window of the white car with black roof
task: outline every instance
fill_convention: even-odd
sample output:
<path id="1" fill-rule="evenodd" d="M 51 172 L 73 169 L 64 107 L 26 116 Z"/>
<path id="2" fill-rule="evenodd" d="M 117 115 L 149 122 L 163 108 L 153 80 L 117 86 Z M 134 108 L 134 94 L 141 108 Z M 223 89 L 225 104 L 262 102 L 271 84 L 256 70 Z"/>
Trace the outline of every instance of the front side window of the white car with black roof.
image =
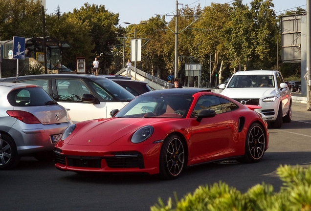
<path id="1" fill-rule="evenodd" d="M 81 80 L 56 79 L 59 101 L 82 102 L 83 94 L 90 94 L 88 87 Z"/>

